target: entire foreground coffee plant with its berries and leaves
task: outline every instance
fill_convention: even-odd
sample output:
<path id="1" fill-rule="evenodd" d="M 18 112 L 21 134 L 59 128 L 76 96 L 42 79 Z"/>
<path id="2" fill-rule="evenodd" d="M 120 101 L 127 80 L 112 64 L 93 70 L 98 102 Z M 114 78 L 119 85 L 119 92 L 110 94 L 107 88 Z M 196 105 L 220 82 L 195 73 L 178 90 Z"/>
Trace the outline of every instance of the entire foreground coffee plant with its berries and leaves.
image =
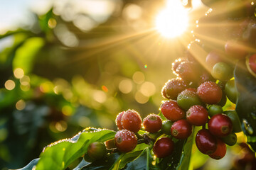
<path id="1" fill-rule="evenodd" d="M 225 157 L 227 145 L 237 143 L 241 131 L 247 144 L 238 145 L 247 154 L 235 164 L 255 169 L 255 2 L 201 1 L 209 10 L 196 21 L 195 40 L 172 64 L 177 77 L 163 84 L 160 113 L 143 120 L 132 109 L 117 113 L 117 132 L 85 128 L 46 146 L 22 170 L 69 169 L 78 159 L 75 169 L 186 170 L 193 142 L 201 154 L 218 160 Z"/>

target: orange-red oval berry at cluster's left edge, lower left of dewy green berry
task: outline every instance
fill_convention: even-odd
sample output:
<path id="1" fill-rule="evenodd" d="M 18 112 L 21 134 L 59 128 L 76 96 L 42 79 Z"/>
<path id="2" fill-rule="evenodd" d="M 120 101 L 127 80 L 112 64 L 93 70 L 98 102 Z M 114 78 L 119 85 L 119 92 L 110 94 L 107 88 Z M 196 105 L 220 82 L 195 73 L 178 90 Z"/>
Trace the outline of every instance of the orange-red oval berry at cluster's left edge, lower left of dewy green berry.
<path id="1" fill-rule="evenodd" d="M 164 101 L 161 105 L 161 113 L 171 121 L 180 120 L 186 117 L 185 111 L 178 106 L 176 101 Z"/>

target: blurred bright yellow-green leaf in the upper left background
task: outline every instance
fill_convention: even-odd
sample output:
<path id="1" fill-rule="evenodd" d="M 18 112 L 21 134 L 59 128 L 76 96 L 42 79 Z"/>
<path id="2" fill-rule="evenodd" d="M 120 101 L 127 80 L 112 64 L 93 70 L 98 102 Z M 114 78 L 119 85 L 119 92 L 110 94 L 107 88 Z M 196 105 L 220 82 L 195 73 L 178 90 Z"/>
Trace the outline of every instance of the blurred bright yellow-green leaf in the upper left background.
<path id="1" fill-rule="evenodd" d="M 25 74 L 31 72 L 33 60 L 36 54 L 45 44 L 43 38 L 29 38 L 24 44 L 16 50 L 13 61 L 13 69 L 21 68 Z"/>

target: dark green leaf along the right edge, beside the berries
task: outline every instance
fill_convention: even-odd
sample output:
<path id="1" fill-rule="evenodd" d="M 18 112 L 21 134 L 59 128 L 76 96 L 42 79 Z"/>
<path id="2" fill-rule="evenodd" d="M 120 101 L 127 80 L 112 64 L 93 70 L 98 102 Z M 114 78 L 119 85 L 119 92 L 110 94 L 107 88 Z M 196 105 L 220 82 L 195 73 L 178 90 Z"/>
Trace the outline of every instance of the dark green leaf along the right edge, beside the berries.
<path id="1" fill-rule="evenodd" d="M 256 78 L 248 72 L 244 61 L 235 67 L 235 86 L 238 89 L 238 101 L 235 111 L 238 113 L 242 130 L 247 135 L 247 142 L 256 151 Z"/>

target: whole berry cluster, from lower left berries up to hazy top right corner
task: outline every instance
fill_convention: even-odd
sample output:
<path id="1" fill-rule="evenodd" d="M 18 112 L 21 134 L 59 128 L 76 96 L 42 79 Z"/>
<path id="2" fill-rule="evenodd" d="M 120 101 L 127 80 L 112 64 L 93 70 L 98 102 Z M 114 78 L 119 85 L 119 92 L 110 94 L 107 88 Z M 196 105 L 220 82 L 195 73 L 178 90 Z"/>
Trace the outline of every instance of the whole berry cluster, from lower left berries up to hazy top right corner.
<path id="1" fill-rule="evenodd" d="M 238 3 L 229 1 L 233 3 L 226 4 L 228 8 L 230 4 Z M 223 158 L 226 145 L 233 146 L 237 142 L 235 133 L 241 131 L 239 116 L 235 110 L 223 111 L 223 106 L 227 100 L 232 103 L 238 100 L 233 78 L 236 64 L 246 64 L 249 72 L 256 77 L 253 50 L 256 45 L 256 20 L 252 18 L 255 17 L 255 5 L 242 6 L 242 9 L 237 8 L 238 11 L 228 12 L 225 16 L 212 12 L 217 11 L 218 14 L 218 10 L 223 9 L 221 5 L 202 2 L 212 8 L 197 21 L 198 26 L 193 30 L 196 40 L 188 45 L 185 56 L 172 64 L 177 77 L 167 81 L 161 90 L 166 101 L 161 104 L 160 111 L 166 120 L 149 114 L 142 121 L 137 111 L 123 111 L 116 118 L 119 131 L 114 140 L 105 142 L 107 149 L 130 152 L 139 140 L 144 140 L 153 144 L 156 157 L 168 157 L 174 151 L 175 141 L 186 140 L 195 126 L 202 127 L 196 132 L 198 150 L 213 159 Z M 209 23 L 218 24 L 209 27 Z M 148 133 L 139 135 L 139 130 Z M 93 145 L 102 146 L 102 143 L 91 145 L 90 148 L 93 148 Z M 94 157 L 89 149 L 88 155 Z"/>

